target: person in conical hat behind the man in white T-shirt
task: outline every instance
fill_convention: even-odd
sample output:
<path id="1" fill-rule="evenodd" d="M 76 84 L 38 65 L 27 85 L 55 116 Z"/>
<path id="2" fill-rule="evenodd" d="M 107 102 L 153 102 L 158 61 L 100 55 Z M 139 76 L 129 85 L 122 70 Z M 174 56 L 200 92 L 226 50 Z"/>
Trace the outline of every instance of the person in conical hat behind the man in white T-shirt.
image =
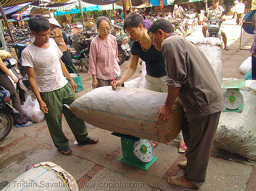
<path id="1" fill-rule="evenodd" d="M 69 52 L 69 48 L 63 39 L 62 32 L 60 31 L 61 27 L 58 21 L 54 17 L 52 17 L 49 18 L 49 22 L 51 30 L 50 37 L 55 40 L 56 44 L 58 45 L 60 51 L 63 54 L 60 59 L 66 65 L 69 73 L 76 73 L 76 68 L 72 64 L 72 57 Z"/>

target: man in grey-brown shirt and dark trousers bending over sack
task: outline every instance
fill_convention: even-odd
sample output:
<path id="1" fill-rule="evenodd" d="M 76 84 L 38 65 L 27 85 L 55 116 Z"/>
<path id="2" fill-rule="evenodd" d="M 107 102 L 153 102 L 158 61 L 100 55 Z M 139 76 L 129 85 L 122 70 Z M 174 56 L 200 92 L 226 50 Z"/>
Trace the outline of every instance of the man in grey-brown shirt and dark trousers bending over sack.
<path id="1" fill-rule="evenodd" d="M 171 176 L 168 183 L 181 187 L 197 187 L 205 182 L 212 142 L 224 109 L 223 95 L 211 64 L 191 41 L 177 35 L 172 23 L 156 20 L 148 29 L 156 49 L 165 61 L 167 97 L 158 110 L 158 118 L 166 120 L 177 99 L 186 117 L 182 134 L 187 146 L 187 160 L 178 165 L 182 176 Z"/>

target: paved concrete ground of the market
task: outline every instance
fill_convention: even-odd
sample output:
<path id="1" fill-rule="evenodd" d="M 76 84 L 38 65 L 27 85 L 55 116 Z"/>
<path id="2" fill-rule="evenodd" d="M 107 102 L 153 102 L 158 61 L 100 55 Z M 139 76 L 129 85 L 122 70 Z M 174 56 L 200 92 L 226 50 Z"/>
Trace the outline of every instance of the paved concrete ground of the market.
<path id="1" fill-rule="evenodd" d="M 243 32 L 240 46 L 241 26 L 236 25 L 235 19 L 224 22 L 228 37 L 229 51 L 222 50 L 223 77 L 241 79 L 239 66 L 250 56 L 246 47 L 252 44 L 252 36 Z M 191 35 L 200 36 L 201 26 Z M 242 47 L 242 50 L 239 50 Z M 125 61 L 121 67 L 122 74 L 129 66 Z M 140 76 L 140 65 L 133 78 Z M 77 97 L 92 90 L 92 77 L 84 68 L 79 73 L 84 89 L 77 92 Z M 121 74 L 121 75 L 122 75 Z M 175 187 L 166 181 L 169 176 L 184 173 L 177 162 L 185 159 L 184 154 L 178 153 L 177 140 L 167 145 L 158 144 L 155 148 L 157 160 L 146 171 L 120 162 L 122 149 L 120 138 L 111 135 L 110 131 L 102 130 L 87 124 L 90 136 L 99 138 L 96 145 L 74 145 L 75 138 L 63 117 L 63 131 L 70 140 L 73 154 L 62 155 L 54 147 L 46 121 L 29 127 L 13 126 L 10 134 L 0 142 L 0 182 L 8 184 L 25 172 L 27 165 L 51 161 L 67 172 L 77 181 L 80 190 L 190 190 L 192 188 Z M 195 188 L 197 190 L 256 190 L 256 163 L 246 158 L 213 147 L 209 160 L 205 183 Z M 6 182 L 7 181 L 7 182 Z M 51 190 L 49 188 L 49 190 Z"/>

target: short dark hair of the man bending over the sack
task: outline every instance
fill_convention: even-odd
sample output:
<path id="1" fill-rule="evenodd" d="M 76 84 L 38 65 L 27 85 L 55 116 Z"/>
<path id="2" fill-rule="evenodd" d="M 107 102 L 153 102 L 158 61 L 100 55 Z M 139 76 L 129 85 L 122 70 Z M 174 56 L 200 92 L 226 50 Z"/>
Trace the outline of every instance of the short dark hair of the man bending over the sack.
<path id="1" fill-rule="evenodd" d="M 156 34 L 161 29 L 165 33 L 173 33 L 175 31 L 174 26 L 168 20 L 163 18 L 153 22 L 153 24 L 147 29 L 147 33 L 151 32 Z"/>

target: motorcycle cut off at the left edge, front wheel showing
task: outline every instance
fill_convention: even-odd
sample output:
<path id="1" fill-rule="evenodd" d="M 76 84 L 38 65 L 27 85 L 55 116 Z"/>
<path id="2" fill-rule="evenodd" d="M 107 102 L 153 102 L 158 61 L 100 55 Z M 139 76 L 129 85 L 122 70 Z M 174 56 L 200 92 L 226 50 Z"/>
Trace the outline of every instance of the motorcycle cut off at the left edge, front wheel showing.
<path id="1" fill-rule="evenodd" d="M 0 86 L 0 141 L 11 132 L 13 126 L 12 113 L 18 113 L 7 101 L 10 99 L 10 92 Z"/>

